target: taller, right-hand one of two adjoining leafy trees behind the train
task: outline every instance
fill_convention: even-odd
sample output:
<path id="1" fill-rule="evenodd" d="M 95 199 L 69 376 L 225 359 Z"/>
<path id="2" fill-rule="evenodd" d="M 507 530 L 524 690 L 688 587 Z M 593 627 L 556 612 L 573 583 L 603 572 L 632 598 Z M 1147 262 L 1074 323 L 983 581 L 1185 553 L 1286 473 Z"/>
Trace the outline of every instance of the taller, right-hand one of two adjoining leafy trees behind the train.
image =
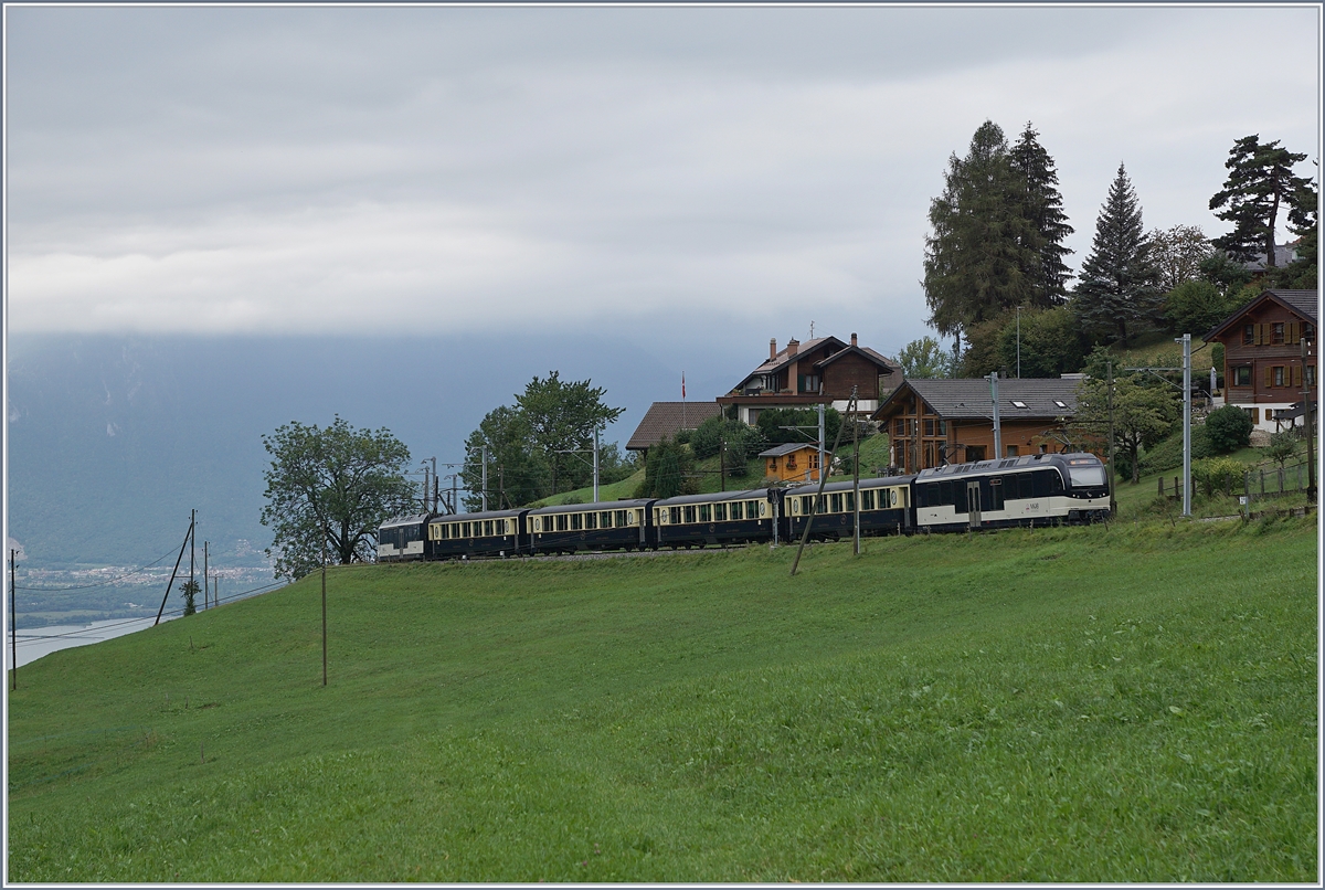
<path id="1" fill-rule="evenodd" d="M 621 416 L 624 408 L 603 404 L 607 391 L 592 387 L 590 380 L 563 383 L 556 371 L 547 377 L 534 377 L 525 392 L 515 396 L 515 404 L 529 426 L 534 448 L 549 468 L 551 493 L 580 487 L 592 475 L 592 469 L 574 454 L 560 452 L 590 452 L 594 430 Z"/>

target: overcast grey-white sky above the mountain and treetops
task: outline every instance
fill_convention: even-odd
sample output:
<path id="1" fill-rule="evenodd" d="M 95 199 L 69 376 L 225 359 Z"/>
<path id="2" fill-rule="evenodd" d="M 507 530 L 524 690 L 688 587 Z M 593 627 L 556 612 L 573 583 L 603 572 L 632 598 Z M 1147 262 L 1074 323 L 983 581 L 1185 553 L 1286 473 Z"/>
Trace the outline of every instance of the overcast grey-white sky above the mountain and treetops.
<path id="1" fill-rule="evenodd" d="M 1234 140 L 1318 158 L 1318 9 L 5 8 L 8 324 L 926 332 L 951 152 L 1027 121 L 1076 269 Z M 1309 173 L 1309 163 L 1298 168 Z M 751 364 L 753 362 L 741 362 Z"/>

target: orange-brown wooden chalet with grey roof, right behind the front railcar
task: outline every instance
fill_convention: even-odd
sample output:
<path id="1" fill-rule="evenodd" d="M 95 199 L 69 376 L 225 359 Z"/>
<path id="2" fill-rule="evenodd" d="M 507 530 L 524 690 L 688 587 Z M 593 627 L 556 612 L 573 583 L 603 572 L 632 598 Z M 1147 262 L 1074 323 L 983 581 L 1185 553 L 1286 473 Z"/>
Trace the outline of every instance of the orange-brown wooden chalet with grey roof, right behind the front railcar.
<path id="1" fill-rule="evenodd" d="M 994 454 L 990 381 L 906 380 L 874 412 L 889 434 L 890 461 L 902 473 L 931 466 L 1061 450 L 1076 415 L 1080 375 L 999 380 L 1003 454 Z"/>

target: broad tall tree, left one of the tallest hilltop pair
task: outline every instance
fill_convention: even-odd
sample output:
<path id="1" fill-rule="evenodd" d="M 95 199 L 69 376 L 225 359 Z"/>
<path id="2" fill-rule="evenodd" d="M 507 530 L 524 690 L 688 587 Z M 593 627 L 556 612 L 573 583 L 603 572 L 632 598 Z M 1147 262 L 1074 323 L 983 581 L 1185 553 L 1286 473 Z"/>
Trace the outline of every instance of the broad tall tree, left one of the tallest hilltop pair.
<path id="1" fill-rule="evenodd" d="M 1039 240 L 1026 203 L 1003 131 L 986 121 L 966 158 L 949 158 L 943 193 L 929 208 L 922 283 L 929 323 L 939 334 L 961 338 L 973 324 L 1035 302 Z"/>

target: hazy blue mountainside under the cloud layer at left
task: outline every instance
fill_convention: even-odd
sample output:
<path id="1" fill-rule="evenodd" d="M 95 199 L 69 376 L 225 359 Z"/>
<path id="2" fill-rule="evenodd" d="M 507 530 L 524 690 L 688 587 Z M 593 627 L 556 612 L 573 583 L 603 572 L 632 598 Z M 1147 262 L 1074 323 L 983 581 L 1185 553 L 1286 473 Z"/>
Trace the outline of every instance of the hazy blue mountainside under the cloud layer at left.
<path id="1" fill-rule="evenodd" d="M 652 401 L 677 397 L 681 371 L 620 336 L 11 334 L 8 347 L 9 535 L 29 568 L 147 563 L 179 547 L 191 509 L 217 563 L 261 564 L 261 437 L 292 420 L 386 426 L 440 469 L 534 375 L 606 387 L 627 411 L 604 441 L 624 444 Z M 690 397 L 725 391 L 739 359 L 693 364 Z"/>

